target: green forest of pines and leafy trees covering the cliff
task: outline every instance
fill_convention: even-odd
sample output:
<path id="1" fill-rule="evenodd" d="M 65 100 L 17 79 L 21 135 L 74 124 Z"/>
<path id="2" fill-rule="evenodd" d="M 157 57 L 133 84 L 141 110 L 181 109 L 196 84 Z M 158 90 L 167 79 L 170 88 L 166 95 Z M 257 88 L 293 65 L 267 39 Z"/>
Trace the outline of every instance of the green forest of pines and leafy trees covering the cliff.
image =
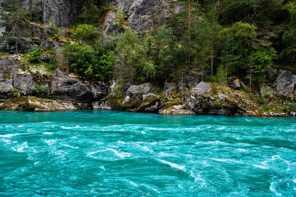
<path id="1" fill-rule="evenodd" d="M 159 21 L 156 27 L 137 32 L 126 23 L 127 13 L 116 10 L 117 31 L 106 33 L 108 1 L 80 0 L 76 24 L 68 28 L 62 54 L 56 58 L 84 79 L 111 82 L 226 84 L 240 78 L 250 90 L 262 83 L 268 66 L 295 70 L 295 0 L 180 0 L 182 10 Z M 40 22 L 35 10 L 20 0 L 6 0 L 1 12 L 2 39 L 15 43 L 16 53 L 23 26 Z M 150 19 L 153 20 L 153 19 Z M 53 20 L 47 36 L 59 39 Z M 39 62 L 42 46 L 32 48 L 32 63 Z M 68 70 L 69 72 L 69 70 Z M 189 84 L 193 85 L 193 84 Z"/>

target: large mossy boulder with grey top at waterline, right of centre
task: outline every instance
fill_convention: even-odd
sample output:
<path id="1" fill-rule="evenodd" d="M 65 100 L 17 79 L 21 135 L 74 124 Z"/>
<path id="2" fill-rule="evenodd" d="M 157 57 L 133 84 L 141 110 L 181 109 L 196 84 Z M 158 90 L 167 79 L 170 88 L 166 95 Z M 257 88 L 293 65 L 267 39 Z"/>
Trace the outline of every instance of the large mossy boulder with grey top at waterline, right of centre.
<path id="1" fill-rule="evenodd" d="M 190 92 L 188 108 L 197 114 L 259 115 L 259 105 L 248 94 L 224 88 L 219 92 L 201 82 Z"/>

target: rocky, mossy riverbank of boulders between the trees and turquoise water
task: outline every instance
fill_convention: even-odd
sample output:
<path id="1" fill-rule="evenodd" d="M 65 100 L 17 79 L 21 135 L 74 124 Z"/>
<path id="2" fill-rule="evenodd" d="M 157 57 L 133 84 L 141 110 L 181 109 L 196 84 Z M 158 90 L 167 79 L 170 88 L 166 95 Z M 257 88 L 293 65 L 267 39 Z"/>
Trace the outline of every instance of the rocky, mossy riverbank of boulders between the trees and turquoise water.
<path id="1" fill-rule="evenodd" d="M 296 74 L 291 70 L 269 67 L 264 83 L 252 90 L 234 77 L 228 78 L 227 86 L 193 83 L 188 76 L 184 83 L 158 87 L 120 80 L 85 81 L 59 67 L 50 71 L 45 65 L 25 69 L 22 58 L 6 55 L 0 59 L 0 110 L 102 109 L 239 116 L 291 116 L 296 112 Z"/>

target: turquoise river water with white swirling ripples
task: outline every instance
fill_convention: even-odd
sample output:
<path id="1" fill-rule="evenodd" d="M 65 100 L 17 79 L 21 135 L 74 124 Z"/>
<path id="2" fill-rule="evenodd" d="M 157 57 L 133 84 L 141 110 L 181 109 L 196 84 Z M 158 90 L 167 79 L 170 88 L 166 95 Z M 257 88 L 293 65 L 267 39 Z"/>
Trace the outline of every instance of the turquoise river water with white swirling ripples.
<path id="1" fill-rule="evenodd" d="M 0 111 L 0 196 L 295 197 L 296 119 Z"/>

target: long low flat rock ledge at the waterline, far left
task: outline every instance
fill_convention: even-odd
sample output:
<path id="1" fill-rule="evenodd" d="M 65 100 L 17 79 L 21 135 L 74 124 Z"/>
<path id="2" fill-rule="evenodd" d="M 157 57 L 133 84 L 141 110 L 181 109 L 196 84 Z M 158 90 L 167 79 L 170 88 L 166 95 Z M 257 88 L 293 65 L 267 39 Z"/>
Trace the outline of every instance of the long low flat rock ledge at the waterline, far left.
<path id="1" fill-rule="evenodd" d="M 19 97 L 0 103 L 0 110 L 17 111 L 62 111 L 87 109 L 88 106 L 70 101 L 40 99 L 36 97 Z"/>

